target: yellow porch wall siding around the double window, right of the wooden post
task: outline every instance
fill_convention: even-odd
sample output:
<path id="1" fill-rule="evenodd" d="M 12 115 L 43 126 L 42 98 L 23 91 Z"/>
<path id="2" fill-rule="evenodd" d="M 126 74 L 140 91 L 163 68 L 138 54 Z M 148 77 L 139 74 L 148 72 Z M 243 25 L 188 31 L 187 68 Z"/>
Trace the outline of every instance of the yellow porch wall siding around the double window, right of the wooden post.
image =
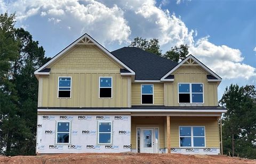
<path id="1" fill-rule="evenodd" d="M 220 136 L 217 117 L 170 117 L 171 147 L 179 147 L 179 126 L 204 126 L 205 147 L 219 148 Z"/>

